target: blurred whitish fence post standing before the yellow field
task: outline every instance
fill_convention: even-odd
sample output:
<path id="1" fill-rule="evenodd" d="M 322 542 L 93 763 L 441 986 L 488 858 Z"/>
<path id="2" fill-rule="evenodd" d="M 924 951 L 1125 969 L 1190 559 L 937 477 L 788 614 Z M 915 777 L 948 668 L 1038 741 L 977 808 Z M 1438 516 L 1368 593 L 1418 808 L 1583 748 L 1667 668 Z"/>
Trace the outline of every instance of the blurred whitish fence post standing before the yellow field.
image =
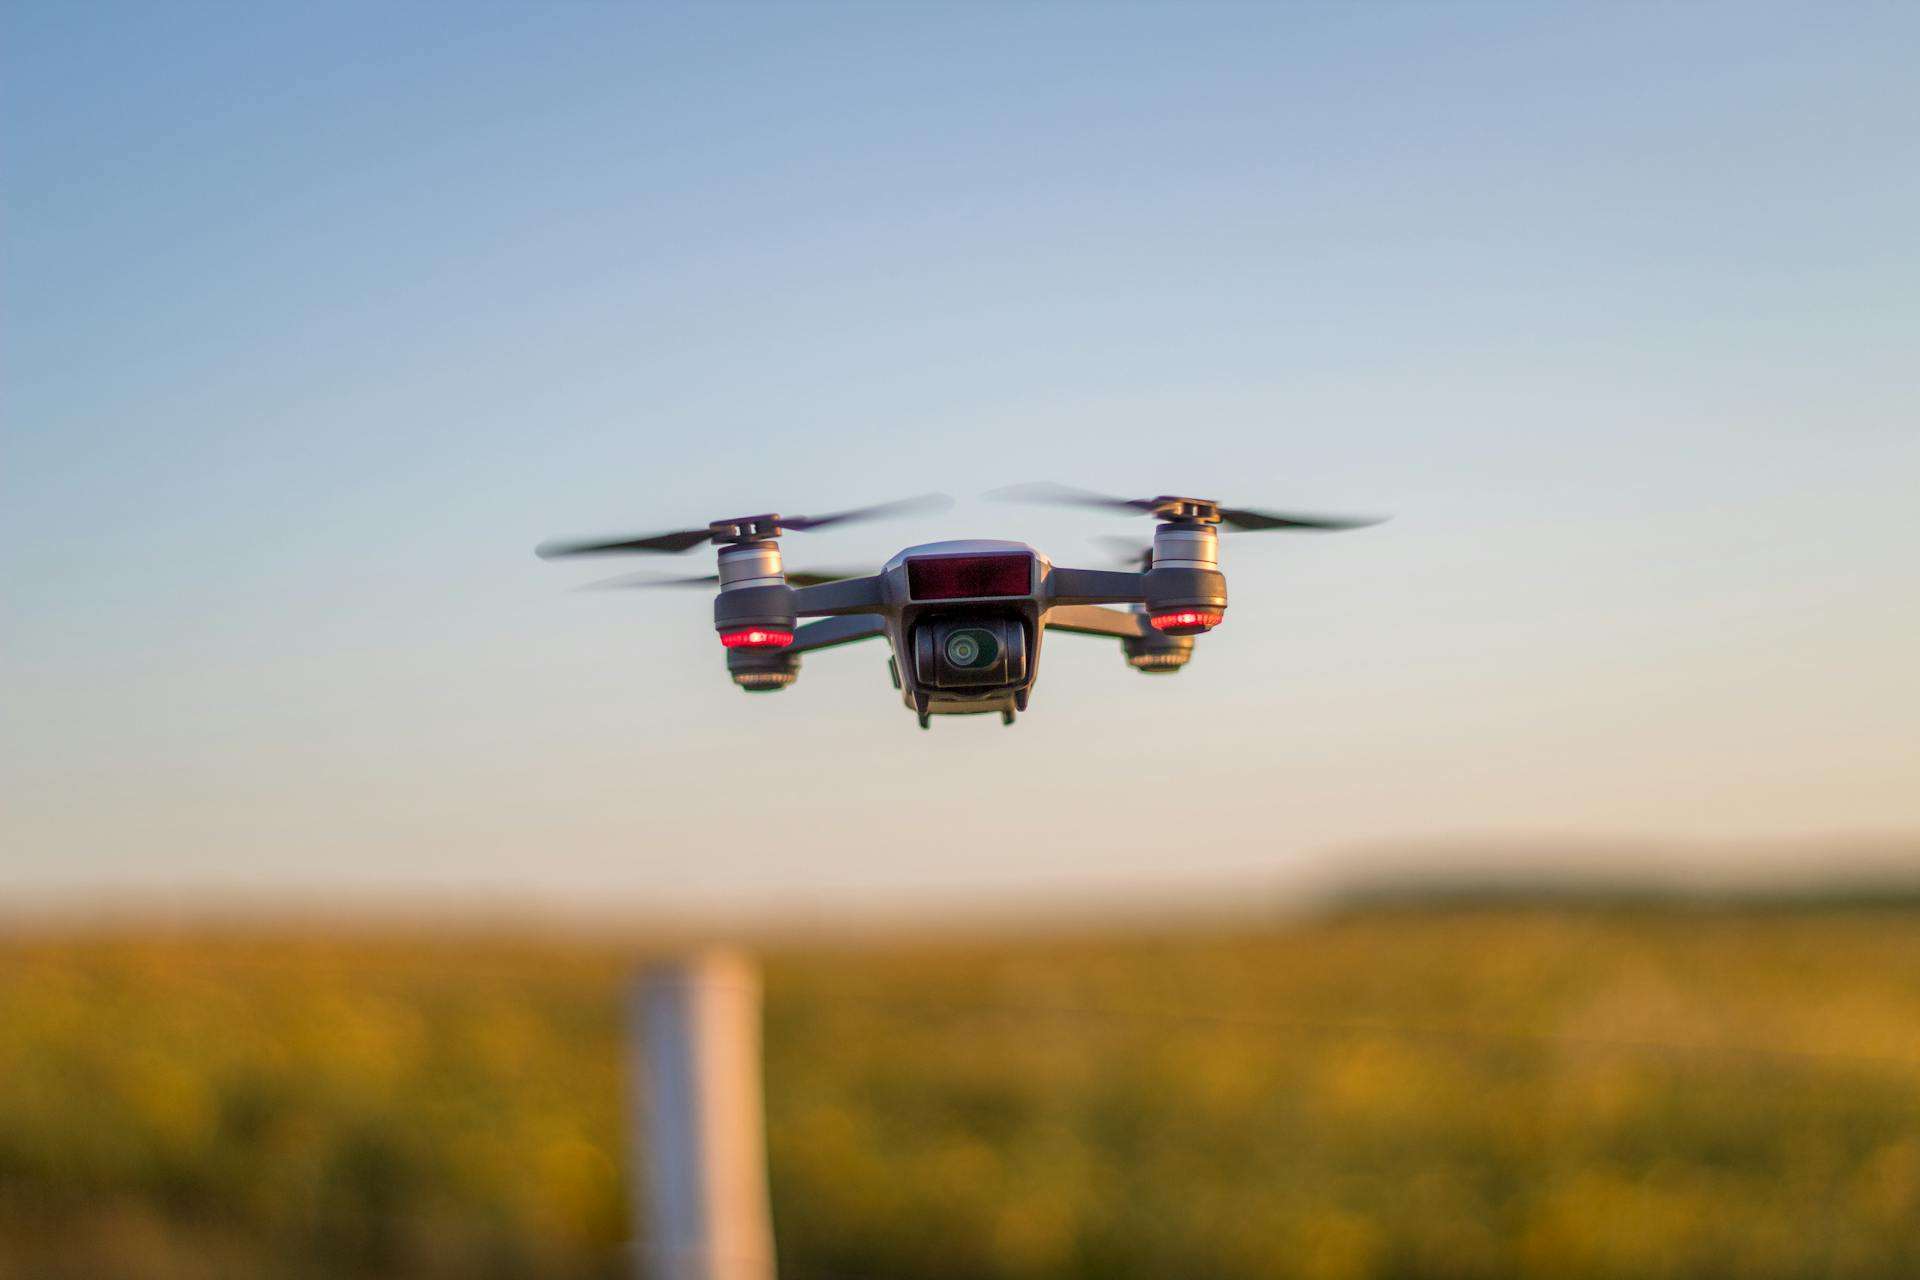
<path id="1" fill-rule="evenodd" d="M 737 952 L 659 965 L 632 996 L 643 1280 L 774 1280 L 760 1119 L 760 975 Z M 632 1180 L 637 1188 L 641 1178 Z"/>

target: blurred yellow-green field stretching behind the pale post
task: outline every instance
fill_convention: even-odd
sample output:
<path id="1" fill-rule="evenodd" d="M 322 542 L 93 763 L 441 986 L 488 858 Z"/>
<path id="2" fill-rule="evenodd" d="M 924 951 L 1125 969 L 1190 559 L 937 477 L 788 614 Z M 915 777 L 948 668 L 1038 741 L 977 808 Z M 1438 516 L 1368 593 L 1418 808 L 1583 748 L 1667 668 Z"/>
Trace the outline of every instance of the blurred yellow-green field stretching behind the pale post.
<path id="1" fill-rule="evenodd" d="M 626 1274 L 639 948 L 0 940 L 0 1276 Z M 1920 912 L 768 952 L 781 1270 L 1910 1276 Z"/>

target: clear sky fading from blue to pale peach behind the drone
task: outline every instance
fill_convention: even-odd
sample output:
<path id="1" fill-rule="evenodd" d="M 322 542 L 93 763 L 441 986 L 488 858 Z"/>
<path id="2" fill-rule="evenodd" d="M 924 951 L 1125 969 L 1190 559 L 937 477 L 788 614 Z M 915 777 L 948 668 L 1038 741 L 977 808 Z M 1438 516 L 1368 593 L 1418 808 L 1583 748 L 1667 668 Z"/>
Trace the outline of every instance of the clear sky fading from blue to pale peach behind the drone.
<path id="1" fill-rule="evenodd" d="M 1916 65 L 1910 4 L 12 4 L 0 892 L 1912 833 Z M 753 699 L 705 597 L 532 557 L 1133 532 L 1018 480 L 1396 520 L 933 733 L 879 647 Z"/>

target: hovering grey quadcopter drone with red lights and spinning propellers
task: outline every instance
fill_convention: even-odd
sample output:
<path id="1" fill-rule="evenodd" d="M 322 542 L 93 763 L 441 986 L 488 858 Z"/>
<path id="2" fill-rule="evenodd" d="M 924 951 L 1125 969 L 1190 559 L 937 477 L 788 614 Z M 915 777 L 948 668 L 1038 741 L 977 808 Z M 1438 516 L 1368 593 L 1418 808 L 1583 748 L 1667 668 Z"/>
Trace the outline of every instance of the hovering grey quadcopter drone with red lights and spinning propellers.
<path id="1" fill-rule="evenodd" d="M 1194 637 L 1227 616 L 1219 532 L 1336 532 L 1379 520 L 1277 514 L 1198 497 L 1123 499 L 1064 486 L 1016 486 L 995 497 L 1146 514 L 1152 547 L 1129 547 L 1135 568 L 1066 568 L 1027 543 L 958 539 L 895 555 L 877 574 L 787 572 L 785 533 L 876 520 L 950 499 L 927 495 L 826 516 L 735 516 L 712 524 L 605 541 L 549 541 L 541 558 L 718 549 L 718 572 L 697 578 L 624 576 L 595 585 L 718 585 L 714 631 L 726 670 L 749 693 L 787 689 L 801 654 L 885 637 L 887 670 L 927 729 L 933 716 L 1027 710 L 1048 631 L 1117 639 L 1137 672 L 1167 676 L 1192 658 Z M 812 622 L 801 622 L 812 618 Z"/>

